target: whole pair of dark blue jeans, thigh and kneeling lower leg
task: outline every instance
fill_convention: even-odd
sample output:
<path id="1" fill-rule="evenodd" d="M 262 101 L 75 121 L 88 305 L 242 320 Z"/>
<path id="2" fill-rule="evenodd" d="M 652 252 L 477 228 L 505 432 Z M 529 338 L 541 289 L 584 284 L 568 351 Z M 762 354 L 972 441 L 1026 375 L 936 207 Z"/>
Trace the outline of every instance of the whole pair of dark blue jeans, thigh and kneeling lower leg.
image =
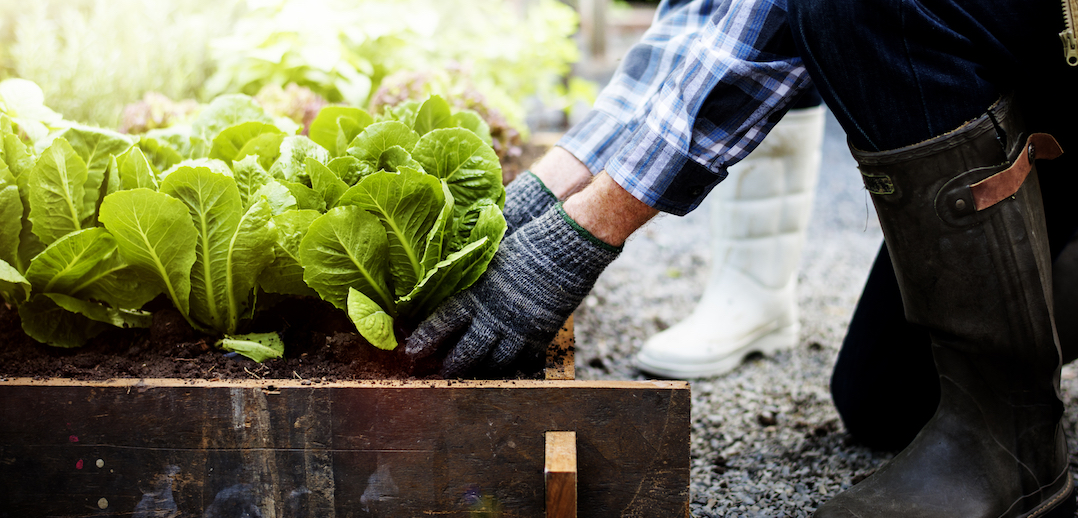
<path id="1" fill-rule="evenodd" d="M 1052 256 L 1074 261 L 1061 253 L 1078 228 L 1078 69 L 1063 58 L 1056 0 L 789 0 L 788 8 L 805 66 L 858 149 L 937 137 L 1014 93 L 1029 129 L 1070 150 L 1041 160 L 1038 173 Z M 1058 300 L 1061 291 L 1056 283 Z M 851 434 L 883 449 L 904 447 L 938 404 L 928 332 L 906 321 L 885 248 L 847 330 L 831 393 Z"/>

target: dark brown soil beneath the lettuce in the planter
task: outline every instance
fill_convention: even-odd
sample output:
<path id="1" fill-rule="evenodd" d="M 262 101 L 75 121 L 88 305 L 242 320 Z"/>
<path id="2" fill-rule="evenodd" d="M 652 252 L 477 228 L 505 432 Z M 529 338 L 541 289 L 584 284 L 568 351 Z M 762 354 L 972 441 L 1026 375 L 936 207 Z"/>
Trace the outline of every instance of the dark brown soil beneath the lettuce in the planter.
<path id="1" fill-rule="evenodd" d="M 261 303 L 261 300 L 260 300 Z M 0 304 L 0 378 L 105 380 L 113 378 L 301 379 L 312 382 L 365 379 L 440 379 L 444 352 L 413 361 L 403 347 L 383 351 L 356 333 L 347 316 L 317 298 L 286 298 L 261 306 L 248 332 L 278 332 L 285 358 L 257 363 L 213 347 L 218 336 L 198 333 L 162 305 L 149 330 L 112 328 L 77 349 L 39 344 L 23 333 L 18 311 Z M 506 374 L 534 378 L 542 359 L 527 359 Z"/>

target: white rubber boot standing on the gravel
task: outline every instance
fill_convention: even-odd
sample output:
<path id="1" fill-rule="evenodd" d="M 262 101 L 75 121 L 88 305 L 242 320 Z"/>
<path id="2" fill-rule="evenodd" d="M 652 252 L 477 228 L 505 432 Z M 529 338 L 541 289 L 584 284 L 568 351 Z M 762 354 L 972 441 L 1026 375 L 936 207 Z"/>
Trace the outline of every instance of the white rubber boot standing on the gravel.
<path id="1" fill-rule="evenodd" d="M 791 110 L 711 192 L 711 272 L 692 314 L 636 355 L 640 370 L 701 378 L 798 344 L 797 272 L 824 138 L 824 107 Z"/>

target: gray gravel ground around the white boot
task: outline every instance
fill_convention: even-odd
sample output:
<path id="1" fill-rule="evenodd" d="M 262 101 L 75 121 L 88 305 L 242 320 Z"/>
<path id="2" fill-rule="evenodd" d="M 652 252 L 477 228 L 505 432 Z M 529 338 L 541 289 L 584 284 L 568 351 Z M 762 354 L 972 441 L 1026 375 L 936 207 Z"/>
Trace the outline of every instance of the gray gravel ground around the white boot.
<path id="1" fill-rule="evenodd" d="M 579 378 L 645 379 L 631 365 L 633 353 L 691 312 L 707 280 L 707 222 L 704 204 L 685 218 L 660 216 L 630 240 L 577 312 Z M 893 456 L 853 445 L 828 392 L 881 241 L 845 135 L 829 114 L 799 272 L 801 342 L 772 358 L 750 359 L 725 376 L 691 382 L 693 516 L 810 516 Z M 1074 437 L 1074 365 L 1064 368 L 1063 393 Z M 1074 439 L 1070 449 L 1078 450 Z"/>

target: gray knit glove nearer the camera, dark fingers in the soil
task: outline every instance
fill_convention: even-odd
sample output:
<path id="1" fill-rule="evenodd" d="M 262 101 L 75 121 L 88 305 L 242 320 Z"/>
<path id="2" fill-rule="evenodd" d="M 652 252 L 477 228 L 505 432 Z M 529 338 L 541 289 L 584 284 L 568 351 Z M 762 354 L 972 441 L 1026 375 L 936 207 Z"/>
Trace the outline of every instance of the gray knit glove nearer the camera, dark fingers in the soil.
<path id="1" fill-rule="evenodd" d="M 507 237 L 483 277 L 442 303 L 404 350 L 423 358 L 464 332 L 442 364 L 442 376 L 481 366 L 500 369 L 523 351 L 547 347 L 620 252 L 577 225 L 557 204 Z"/>

